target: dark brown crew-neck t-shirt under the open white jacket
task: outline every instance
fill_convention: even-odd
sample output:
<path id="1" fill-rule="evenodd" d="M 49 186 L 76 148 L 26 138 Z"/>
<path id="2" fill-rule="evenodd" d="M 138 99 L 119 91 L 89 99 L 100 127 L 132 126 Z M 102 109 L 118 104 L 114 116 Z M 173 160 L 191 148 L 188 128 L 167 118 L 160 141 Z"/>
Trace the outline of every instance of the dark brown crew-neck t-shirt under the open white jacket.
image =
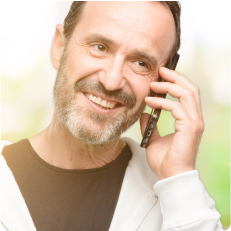
<path id="1" fill-rule="evenodd" d="M 3 156 L 38 231 L 106 231 L 132 154 L 126 145 L 103 167 L 69 170 L 45 162 L 25 139 Z"/>

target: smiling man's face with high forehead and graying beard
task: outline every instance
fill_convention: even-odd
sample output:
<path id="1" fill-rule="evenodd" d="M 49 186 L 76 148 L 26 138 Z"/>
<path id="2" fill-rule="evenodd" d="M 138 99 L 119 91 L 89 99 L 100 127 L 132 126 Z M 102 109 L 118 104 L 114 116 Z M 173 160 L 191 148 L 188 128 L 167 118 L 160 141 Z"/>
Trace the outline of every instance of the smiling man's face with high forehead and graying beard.
<path id="1" fill-rule="evenodd" d="M 161 3 L 87 2 L 55 83 L 59 121 L 87 144 L 117 138 L 141 116 L 174 39 Z"/>

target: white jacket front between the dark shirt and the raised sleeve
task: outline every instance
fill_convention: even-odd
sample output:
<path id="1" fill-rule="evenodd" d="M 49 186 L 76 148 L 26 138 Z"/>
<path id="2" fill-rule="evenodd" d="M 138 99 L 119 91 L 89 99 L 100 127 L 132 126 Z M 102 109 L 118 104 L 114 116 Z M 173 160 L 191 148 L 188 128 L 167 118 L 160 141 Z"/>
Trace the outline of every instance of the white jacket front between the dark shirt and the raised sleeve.
<path id="1" fill-rule="evenodd" d="M 137 230 L 157 201 L 153 185 L 158 178 L 148 166 L 145 149 L 130 138 L 123 140 L 132 151 L 132 159 L 125 172 L 110 231 Z"/>

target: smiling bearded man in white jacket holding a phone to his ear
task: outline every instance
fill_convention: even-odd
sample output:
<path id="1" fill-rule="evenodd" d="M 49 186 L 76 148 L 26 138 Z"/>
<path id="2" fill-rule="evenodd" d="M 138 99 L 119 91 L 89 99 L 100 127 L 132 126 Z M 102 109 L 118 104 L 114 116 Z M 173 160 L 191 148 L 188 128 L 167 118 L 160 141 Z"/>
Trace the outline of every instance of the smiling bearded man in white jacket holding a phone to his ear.
<path id="1" fill-rule="evenodd" d="M 164 68 L 179 49 L 179 16 L 177 2 L 72 4 L 51 47 L 51 124 L 3 149 L 2 228 L 223 230 L 194 170 L 199 89 Z M 140 117 L 144 132 L 145 104 L 176 119 L 175 133 L 156 129 L 146 150 L 120 139 Z"/>

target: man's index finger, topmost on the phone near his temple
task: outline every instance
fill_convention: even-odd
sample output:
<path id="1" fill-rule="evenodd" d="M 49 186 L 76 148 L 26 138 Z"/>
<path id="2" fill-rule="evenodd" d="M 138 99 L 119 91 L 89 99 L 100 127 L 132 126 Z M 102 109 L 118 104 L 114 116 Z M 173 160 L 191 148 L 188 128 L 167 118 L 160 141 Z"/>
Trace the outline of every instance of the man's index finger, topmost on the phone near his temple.
<path id="1" fill-rule="evenodd" d="M 159 74 L 161 78 L 163 78 L 167 82 L 175 83 L 178 86 L 191 90 L 194 93 L 194 97 L 196 99 L 198 112 L 202 117 L 199 88 L 176 71 L 172 71 L 167 68 L 161 67 L 159 69 Z"/>

